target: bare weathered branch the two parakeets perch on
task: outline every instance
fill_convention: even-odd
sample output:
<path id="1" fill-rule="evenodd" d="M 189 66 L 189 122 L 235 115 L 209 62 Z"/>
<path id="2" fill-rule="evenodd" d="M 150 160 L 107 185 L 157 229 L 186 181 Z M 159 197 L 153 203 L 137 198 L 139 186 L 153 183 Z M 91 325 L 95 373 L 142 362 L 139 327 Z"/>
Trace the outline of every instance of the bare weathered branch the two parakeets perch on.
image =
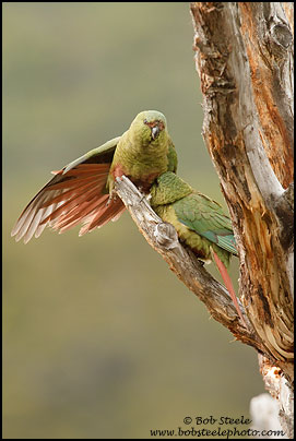
<path id="1" fill-rule="evenodd" d="M 179 279 L 203 301 L 211 315 L 228 327 L 237 339 L 259 351 L 264 351 L 264 345 L 252 331 L 244 309 L 248 329 L 241 323 L 226 288 L 204 270 L 191 251 L 181 246 L 173 225 L 162 222 L 150 206 L 147 199 L 127 177 L 123 176 L 122 180 L 117 178 L 116 191 L 151 247 L 163 257 Z"/>

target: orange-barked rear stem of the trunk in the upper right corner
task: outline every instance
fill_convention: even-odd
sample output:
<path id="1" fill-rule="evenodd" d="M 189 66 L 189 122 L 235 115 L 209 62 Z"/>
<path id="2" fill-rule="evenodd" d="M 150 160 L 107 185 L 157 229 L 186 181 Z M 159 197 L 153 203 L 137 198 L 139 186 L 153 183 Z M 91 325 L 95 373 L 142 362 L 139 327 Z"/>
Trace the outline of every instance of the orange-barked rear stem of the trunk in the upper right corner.
<path id="1" fill-rule="evenodd" d="M 281 3 L 238 5 L 259 134 L 279 181 L 287 188 L 294 170 L 292 29 Z"/>

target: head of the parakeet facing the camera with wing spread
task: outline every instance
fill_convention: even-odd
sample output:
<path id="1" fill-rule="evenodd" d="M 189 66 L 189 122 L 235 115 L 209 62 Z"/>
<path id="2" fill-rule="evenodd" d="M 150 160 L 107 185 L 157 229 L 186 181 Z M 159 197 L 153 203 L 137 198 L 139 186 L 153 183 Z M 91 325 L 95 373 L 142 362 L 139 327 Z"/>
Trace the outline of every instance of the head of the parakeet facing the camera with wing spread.
<path id="1" fill-rule="evenodd" d="M 168 135 L 166 118 L 157 110 L 141 111 L 130 128 L 145 144 L 157 145 L 163 143 Z"/>

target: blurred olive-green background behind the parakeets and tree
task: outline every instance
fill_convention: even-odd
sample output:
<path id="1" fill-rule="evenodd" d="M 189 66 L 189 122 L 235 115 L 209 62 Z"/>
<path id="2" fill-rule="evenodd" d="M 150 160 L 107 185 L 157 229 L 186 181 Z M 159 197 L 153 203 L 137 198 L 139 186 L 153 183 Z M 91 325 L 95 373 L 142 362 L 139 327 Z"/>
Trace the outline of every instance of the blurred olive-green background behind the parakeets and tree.
<path id="1" fill-rule="evenodd" d="M 263 391 L 254 350 L 128 213 L 82 238 L 10 237 L 50 170 L 146 109 L 166 115 L 180 176 L 224 204 L 192 39 L 185 2 L 3 4 L 3 438 L 149 438 L 186 416 L 248 417 Z"/>

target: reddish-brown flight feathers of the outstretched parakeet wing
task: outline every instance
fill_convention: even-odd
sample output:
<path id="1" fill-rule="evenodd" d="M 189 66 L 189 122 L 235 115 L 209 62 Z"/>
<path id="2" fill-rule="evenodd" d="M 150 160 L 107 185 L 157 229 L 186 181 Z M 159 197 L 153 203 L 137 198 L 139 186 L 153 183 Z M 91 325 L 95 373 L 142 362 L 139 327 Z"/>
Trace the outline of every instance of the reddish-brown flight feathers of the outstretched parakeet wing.
<path id="1" fill-rule="evenodd" d="M 39 237 L 47 225 L 60 233 L 76 224 L 80 235 L 118 218 L 125 211 L 121 200 L 108 201 L 106 183 L 110 164 L 80 164 L 55 177 L 33 198 L 19 217 L 11 235 L 28 242 Z"/>

